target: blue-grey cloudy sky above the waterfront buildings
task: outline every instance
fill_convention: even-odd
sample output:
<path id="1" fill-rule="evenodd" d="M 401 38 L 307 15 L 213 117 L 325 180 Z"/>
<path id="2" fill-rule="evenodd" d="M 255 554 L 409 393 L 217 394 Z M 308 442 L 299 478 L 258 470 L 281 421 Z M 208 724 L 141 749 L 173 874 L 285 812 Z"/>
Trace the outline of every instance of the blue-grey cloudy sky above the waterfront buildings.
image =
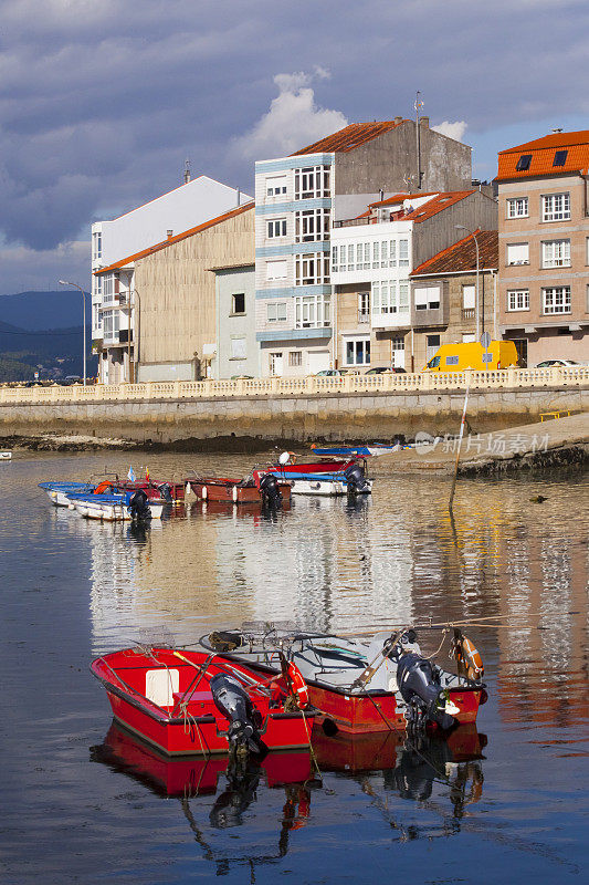
<path id="1" fill-rule="evenodd" d="M 0 294 L 90 284 L 90 226 L 414 115 L 497 152 L 589 128 L 586 0 L 0 0 Z"/>

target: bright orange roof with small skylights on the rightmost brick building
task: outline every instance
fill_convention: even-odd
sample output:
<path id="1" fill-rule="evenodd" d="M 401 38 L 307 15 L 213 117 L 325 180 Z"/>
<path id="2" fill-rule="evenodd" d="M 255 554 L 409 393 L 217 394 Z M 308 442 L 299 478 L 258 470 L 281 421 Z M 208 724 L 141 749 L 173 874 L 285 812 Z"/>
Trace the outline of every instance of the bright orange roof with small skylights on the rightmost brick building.
<path id="1" fill-rule="evenodd" d="M 555 166 L 557 150 L 566 152 L 566 156 L 561 165 Z M 526 169 L 517 169 L 517 163 L 523 155 L 530 156 L 529 166 Z M 589 129 L 557 132 L 523 145 L 509 147 L 506 150 L 499 150 L 495 180 L 579 173 L 583 168 L 589 168 Z"/>

